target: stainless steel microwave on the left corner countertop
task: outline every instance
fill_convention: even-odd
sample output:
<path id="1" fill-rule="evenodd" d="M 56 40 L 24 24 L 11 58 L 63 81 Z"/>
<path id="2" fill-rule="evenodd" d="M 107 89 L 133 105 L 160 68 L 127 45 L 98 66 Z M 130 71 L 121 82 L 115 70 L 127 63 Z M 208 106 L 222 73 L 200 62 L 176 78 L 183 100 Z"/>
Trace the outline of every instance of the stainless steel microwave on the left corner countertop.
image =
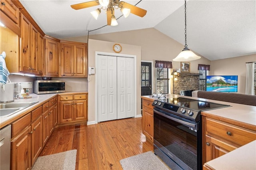
<path id="1" fill-rule="evenodd" d="M 36 80 L 34 81 L 34 93 L 62 93 L 65 92 L 65 82 L 61 80 Z"/>

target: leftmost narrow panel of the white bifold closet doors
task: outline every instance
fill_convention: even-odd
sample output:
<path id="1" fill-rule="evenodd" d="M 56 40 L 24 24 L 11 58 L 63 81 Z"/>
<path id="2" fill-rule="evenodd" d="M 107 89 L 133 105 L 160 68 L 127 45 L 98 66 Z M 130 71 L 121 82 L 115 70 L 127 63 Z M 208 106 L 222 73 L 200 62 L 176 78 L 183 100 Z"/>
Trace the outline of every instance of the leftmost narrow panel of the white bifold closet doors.
<path id="1" fill-rule="evenodd" d="M 105 56 L 98 55 L 98 122 L 108 121 L 108 60 Z"/>

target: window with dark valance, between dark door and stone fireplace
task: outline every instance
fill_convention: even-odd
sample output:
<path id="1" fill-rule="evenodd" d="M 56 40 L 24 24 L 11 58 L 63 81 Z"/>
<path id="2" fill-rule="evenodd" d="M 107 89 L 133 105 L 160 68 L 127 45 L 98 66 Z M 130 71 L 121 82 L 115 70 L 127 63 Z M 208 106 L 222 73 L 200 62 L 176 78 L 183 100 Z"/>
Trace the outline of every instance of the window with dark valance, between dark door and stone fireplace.
<path id="1" fill-rule="evenodd" d="M 156 68 L 156 93 L 168 93 L 168 68 Z"/>

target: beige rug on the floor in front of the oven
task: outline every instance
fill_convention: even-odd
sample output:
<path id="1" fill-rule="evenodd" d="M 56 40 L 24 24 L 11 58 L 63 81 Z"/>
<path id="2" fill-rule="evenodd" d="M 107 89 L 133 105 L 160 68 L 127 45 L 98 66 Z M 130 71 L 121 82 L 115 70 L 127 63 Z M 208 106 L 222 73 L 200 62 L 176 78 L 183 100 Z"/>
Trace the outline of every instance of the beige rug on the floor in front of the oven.
<path id="1" fill-rule="evenodd" d="M 158 156 L 148 151 L 120 160 L 123 170 L 170 170 Z"/>

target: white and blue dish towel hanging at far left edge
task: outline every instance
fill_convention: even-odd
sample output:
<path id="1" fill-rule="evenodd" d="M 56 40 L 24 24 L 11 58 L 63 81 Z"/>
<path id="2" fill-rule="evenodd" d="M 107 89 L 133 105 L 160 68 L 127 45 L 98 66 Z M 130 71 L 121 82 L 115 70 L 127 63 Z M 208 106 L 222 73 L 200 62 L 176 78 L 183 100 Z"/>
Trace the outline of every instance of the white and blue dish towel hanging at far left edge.
<path id="1" fill-rule="evenodd" d="M 6 67 L 5 57 L 6 57 L 6 53 L 3 51 L 2 54 L 0 55 L 0 84 L 1 84 L 1 88 L 3 89 L 6 85 L 7 77 L 10 75 L 10 72 Z"/>

